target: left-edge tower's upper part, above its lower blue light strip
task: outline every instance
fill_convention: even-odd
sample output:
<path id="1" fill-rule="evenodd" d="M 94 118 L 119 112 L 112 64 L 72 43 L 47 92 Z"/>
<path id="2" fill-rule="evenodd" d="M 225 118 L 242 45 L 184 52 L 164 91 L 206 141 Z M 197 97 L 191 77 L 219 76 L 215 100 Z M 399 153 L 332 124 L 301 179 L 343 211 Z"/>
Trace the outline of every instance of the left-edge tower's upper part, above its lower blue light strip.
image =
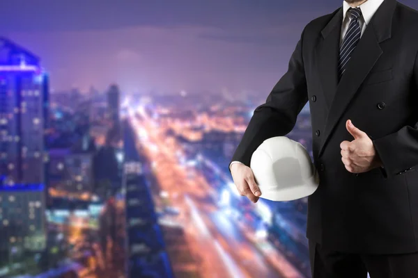
<path id="1" fill-rule="evenodd" d="M 0 38 L 0 173 L 9 185 L 45 182 L 48 95 L 39 58 Z"/>

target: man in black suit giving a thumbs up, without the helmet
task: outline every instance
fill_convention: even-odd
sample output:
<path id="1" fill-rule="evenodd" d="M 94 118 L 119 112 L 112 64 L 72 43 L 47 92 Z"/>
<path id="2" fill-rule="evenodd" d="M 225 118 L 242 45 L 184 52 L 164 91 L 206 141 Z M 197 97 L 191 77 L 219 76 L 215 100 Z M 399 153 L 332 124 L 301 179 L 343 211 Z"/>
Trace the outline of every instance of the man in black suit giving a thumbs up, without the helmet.
<path id="1" fill-rule="evenodd" d="M 418 12 L 396 0 L 346 0 L 304 27 L 231 159 L 238 191 L 261 142 L 286 136 L 309 101 L 320 175 L 308 198 L 314 278 L 418 277 Z"/>

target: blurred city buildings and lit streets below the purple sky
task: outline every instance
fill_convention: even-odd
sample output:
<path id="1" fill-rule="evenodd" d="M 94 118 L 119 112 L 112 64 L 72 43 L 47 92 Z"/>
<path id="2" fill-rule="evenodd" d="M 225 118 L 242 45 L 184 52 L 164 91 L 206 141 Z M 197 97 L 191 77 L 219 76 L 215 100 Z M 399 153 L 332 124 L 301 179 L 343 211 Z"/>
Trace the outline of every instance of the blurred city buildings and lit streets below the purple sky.
<path id="1" fill-rule="evenodd" d="M 52 93 L 0 38 L 0 277 L 310 277 L 307 199 L 252 204 L 228 169 L 267 95 Z M 288 137 L 311 154 L 307 107 Z"/>

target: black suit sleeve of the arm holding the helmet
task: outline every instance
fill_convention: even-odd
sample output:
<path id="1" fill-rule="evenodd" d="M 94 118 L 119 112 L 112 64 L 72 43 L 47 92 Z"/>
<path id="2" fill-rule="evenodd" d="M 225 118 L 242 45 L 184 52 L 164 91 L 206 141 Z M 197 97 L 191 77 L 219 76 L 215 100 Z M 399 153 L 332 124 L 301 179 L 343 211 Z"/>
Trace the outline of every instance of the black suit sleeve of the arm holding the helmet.
<path id="1" fill-rule="evenodd" d="M 288 63 L 287 72 L 274 85 L 265 103 L 254 110 L 231 161 L 249 166 L 253 152 L 264 140 L 285 136 L 295 126 L 297 115 L 308 101 L 302 58 L 304 30 Z"/>

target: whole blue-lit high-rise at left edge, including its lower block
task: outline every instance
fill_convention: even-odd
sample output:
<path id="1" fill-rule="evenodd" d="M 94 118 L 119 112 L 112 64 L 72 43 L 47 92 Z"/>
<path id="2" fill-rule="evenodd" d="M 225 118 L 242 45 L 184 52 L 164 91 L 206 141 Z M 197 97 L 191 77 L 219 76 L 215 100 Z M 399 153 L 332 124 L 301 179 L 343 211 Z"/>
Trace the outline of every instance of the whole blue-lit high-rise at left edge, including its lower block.
<path id="1" fill-rule="evenodd" d="M 48 88 L 40 59 L 0 38 L 0 261 L 7 267 L 45 249 Z"/>

